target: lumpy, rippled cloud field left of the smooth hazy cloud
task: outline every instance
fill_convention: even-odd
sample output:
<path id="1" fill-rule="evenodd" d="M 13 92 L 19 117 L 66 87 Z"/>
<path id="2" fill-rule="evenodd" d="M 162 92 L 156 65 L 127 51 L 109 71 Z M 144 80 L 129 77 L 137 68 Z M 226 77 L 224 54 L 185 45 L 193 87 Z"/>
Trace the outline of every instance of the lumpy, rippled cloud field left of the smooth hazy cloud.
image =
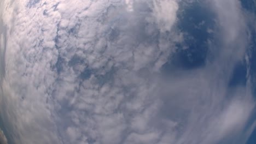
<path id="1" fill-rule="evenodd" d="M 138 72 L 158 71 L 181 36 L 146 26 L 150 15 L 123 1 L 11 7 L 1 113 L 14 142 L 120 143 L 136 134 L 132 117 L 149 113 L 155 87 Z"/>

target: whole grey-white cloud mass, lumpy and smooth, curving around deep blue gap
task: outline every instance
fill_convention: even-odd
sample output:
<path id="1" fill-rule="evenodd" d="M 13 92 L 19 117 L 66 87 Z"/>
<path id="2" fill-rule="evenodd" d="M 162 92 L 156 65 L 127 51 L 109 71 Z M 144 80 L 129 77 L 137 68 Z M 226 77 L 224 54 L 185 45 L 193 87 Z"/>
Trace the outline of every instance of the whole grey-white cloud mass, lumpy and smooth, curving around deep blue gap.
<path id="1" fill-rule="evenodd" d="M 222 35 L 219 47 L 208 45 L 214 58 L 173 76 L 161 69 L 184 40 L 181 2 L 3 3 L 0 114 L 12 143 L 211 144 L 245 130 L 251 83 L 228 87 L 247 44 L 237 1 L 208 6 Z"/>

